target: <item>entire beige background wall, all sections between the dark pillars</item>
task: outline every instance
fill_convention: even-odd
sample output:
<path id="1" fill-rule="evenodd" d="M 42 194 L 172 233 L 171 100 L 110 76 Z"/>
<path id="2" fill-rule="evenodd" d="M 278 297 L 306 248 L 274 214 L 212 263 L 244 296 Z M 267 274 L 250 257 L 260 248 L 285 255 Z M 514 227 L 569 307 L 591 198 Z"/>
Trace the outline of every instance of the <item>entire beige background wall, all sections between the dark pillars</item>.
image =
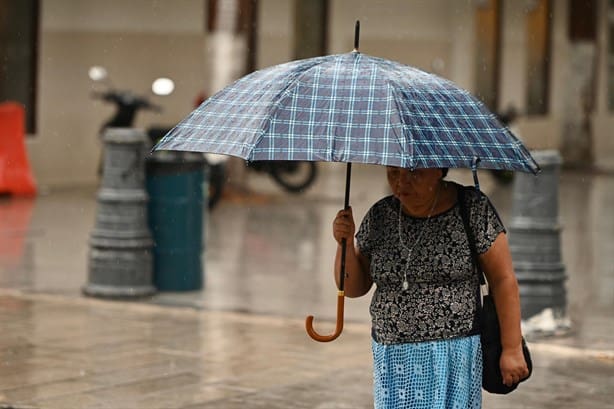
<path id="1" fill-rule="evenodd" d="M 155 97 L 165 111 L 142 113 L 139 126 L 175 124 L 193 109 L 208 78 L 205 63 L 205 0 L 43 0 L 39 48 L 38 133 L 28 139 L 30 162 L 41 185 L 97 182 L 97 133 L 111 108 L 90 98 L 87 69 L 104 65 L 118 87 L 146 92 L 170 76 L 176 91 Z M 525 107 L 524 1 L 506 1 L 503 26 L 501 106 Z M 551 61 L 551 112 L 525 118 L 520 134 L 533 149 L 558 148 L 567 69 L 567 2 L 555 1 Z M 602 3 L 605 4 L 605 3 Z M 472 90 L 475 81 L 474 1 L 330 0 L 329 53 L 353 47 L 361 21 L 362 52 L 445 76 Z M 294 1 L 260 0 L 258 68 L 293 58 Z M 605 14 L 605 13 L 602 13 Z M 600 25 L 604 27 L 604 25 Z M 601 33 L 602 40 L 605 32 Z M 604 41 L 601 42 L 605 50 Z M 607 79 L 604 60 L 600 84 Z M 614 116 L 598 87 L 594 118 L 597 162 L 614 168 Z"/>

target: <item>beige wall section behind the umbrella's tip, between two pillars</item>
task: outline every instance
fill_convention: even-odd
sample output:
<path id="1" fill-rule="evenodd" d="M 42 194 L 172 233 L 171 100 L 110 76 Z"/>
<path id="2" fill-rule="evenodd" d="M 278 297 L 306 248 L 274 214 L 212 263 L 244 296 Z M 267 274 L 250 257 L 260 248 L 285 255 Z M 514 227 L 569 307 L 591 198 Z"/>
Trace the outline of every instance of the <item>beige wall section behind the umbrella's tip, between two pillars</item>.
<path id="1" fill-rule="evenodd" d="M 360 20 L 360 51 L 436 72 L 464 87 L 472 85 L 465 53 L 473 36 L 466 2 L 332 0 L 330 53 L 354 46 L 354 25 Z M 468 21 L 467 21 L 468 19 Z M 442 67 L 437 69 L 437 64 Z"/>

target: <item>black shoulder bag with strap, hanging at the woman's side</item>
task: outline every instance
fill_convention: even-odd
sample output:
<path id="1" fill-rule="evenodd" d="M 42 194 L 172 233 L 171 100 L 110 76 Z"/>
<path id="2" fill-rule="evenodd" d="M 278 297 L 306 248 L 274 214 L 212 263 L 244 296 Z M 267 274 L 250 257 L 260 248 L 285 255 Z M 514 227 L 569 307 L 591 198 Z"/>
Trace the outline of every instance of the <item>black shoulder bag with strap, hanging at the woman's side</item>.
<path id="1" fill-rule="evenodd" d="M 484 273 L 478 263 L 478 255 L 475 247 L 475 240 L 473 237 L 473 231 L 469 226 L 469 216 L 467 214 L 464 187 L 459 187 L 458 191 L 458 203 L 463 219 L 463 225 L 469 241 L 469 248 L 471 249 L 471 257 L 473 264 L 478 274 L 480 275 L 480 285 L 485 285 Z M 499 332 L 499 318 L 497 316 L 497 309 L 495 308 L 495 301 L 490 294 L 482 295 L 482 310 L 480 312 L 480 338 L 482 343 L 482 388 L 490 393 L 496 393 L 505 395 L 518 387 L 518 384 L 507 386 L 503 383 L 503 377 L 501 376 L 501 367 L 499 360 L 501 358 L 501 335 Z M 529 368 L 529 375 L 526 378 L 520 380 L 520 382 L 526 381 L 533 372 L 533 362 L 531 360 L 531 354 L 527 343 L 522 338 L 522 352 L 524 359 Z"/>

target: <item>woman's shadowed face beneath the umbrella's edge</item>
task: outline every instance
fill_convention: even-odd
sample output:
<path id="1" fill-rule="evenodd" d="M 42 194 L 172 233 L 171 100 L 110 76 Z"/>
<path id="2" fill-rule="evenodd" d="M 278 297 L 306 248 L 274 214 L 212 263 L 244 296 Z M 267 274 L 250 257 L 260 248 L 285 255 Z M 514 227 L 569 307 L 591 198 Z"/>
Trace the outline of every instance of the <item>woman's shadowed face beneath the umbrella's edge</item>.
<path id="1" fill-rule="evenodd" d="M 439 180 L 443 173 L 441 169 L 416 169 L 386 167 L 386 176 L 392 193 L 403 204 L 432 200 Z"/>

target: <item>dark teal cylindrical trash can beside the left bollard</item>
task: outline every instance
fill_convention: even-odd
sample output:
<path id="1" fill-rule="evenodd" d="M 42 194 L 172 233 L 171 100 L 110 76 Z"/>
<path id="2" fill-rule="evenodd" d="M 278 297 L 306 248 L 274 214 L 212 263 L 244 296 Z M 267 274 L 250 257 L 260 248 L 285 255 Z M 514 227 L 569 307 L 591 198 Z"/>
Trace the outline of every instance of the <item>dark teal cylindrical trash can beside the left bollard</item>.
<path id="1" fill-rule="evenodd" d="M 154 240 L 153 282 L 159 291 L 203 287 L 203 203 L 208 180 L 200 153 L 157 151 L 146 161 L 148 223 Z"/>

